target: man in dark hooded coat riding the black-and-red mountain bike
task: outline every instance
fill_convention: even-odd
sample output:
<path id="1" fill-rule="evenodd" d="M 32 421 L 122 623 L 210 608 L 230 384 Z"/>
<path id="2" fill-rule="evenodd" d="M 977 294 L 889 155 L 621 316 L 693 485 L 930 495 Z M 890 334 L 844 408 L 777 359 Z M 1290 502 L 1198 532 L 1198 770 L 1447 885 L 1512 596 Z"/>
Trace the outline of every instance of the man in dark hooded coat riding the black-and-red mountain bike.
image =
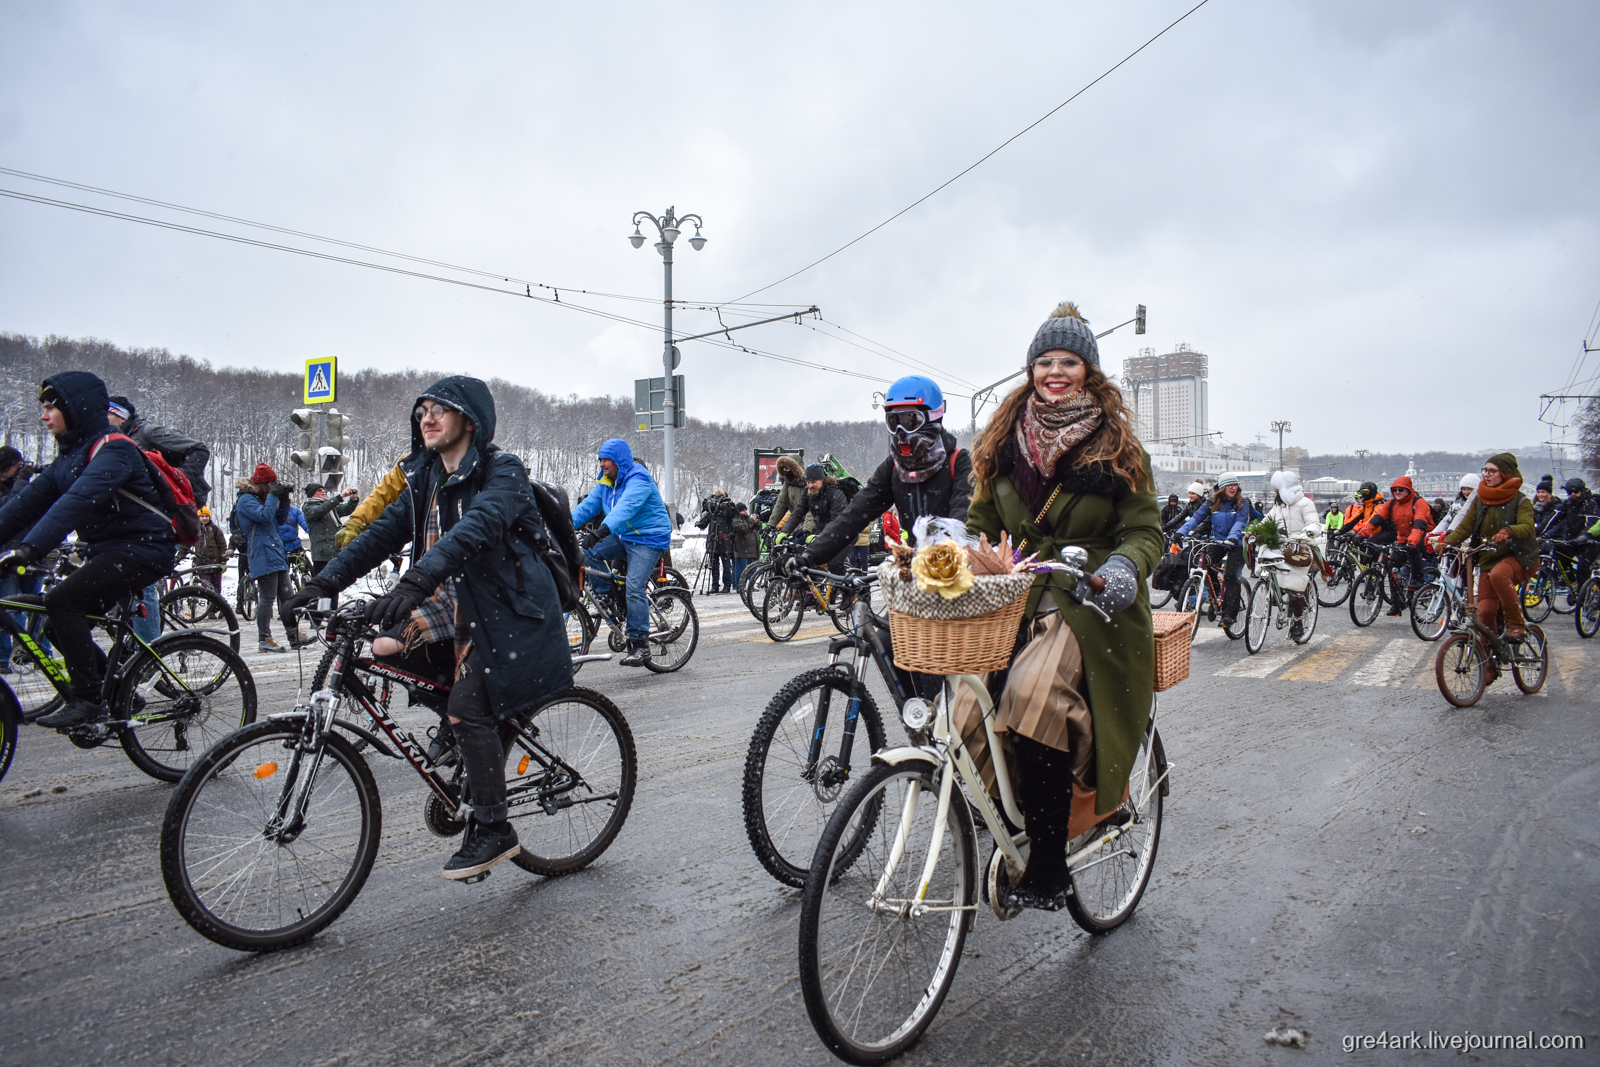
<path id="1" fill-rule="evenodd" d="M 494 398 L 477 378 L 434 382 L 411 413 L 406 483 L 322 574 L 285 608 L 333 597 L 406 544 L 411 566 L 366 619 L 403 627 L 408 641 L 453 641 L 456 675 L 446 717 L 467 771 L 461 851 L 445 877 L 472 878 L 522 846 L 506 803 L 498 720 L 573 681 L 555 579 L 530 544 L 542 526 L 528 472 L 494 442 Z"/>

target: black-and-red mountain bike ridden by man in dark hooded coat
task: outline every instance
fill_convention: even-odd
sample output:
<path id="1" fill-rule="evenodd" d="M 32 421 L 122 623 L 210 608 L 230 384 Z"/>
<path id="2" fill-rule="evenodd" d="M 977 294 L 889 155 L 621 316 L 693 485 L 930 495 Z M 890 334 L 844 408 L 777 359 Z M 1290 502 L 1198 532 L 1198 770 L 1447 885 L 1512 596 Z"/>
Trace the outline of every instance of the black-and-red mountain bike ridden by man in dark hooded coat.
<path id="1" fill-rule="evenodd" d="M 178 784 L 162 822 L 162 878 L 195 931 L 229 949 L 301 944 L 355 899 L 378 856 L 378 781 L 357 747 L 405 760 L 427 785 L 424 825 L 466 829 L 461 761 L 437 766 L 395 721 L 394 689 L 443 705 L 450 686 L 363 654 L 376 630 L 366 606 L 326 617 L 325 685 L 309 704 L 218 741 Z M 341 717 L 352 705 L 376 729 Z M 637 784 L 634 734 L 600 693 L 570 688 L 501 725 L 506 793 L 522 851 L 539 875 L 592 864 L 627 819 Z M 485 872 L 480 881 L 491 872 Z"/>

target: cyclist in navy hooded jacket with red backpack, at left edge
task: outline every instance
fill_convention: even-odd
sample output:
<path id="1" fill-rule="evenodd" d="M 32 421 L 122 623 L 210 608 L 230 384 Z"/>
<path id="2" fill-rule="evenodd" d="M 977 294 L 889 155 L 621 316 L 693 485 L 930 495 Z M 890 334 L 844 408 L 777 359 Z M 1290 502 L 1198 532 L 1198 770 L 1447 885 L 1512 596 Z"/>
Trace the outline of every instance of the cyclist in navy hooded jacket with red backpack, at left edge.
<path id="1" fill-rule="evenodd" d="M 0 509 L 0 544 L 22 534 L 0 569 L 16 573 L 42 560 L 78 531 L 86 557 L 45 593 L 56 648 L 72 675 L 72 699 L 40 718 L 43 726 L 78 726 L 107 717 L 101 704 L 106 653 L 90 635 L 99 614 L 173 569 L 178 537 L 162 506 L 144 453 L 115 434 L 106 418 L 106 382 L 88 371 L 62 371 L 45 379 L 40 421 L 56 437 L 56 461 Z"/>

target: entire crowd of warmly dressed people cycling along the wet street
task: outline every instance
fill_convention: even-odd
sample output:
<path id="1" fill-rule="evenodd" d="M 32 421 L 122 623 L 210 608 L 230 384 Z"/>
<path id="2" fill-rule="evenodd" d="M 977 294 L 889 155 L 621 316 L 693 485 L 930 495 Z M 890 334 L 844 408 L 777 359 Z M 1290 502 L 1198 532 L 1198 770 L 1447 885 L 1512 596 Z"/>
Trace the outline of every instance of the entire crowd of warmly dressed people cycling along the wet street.
<path id="1" fill-rule="evenodd" d="M 763 528 L 794 545 L 782 555 L 786 574 L 859 569 L 874 530 L 909 542 L 923 517 L 965 523 L 994 542 L 1008 536 L 1046 560 L 1067 545 L 1088 552 L 1101 590 L 1083 593 L 1059 573 L 1042 574 L 1013 665 L 990 680 L 1038 857 L 1016 899 L 1059 909 L 1069 891 L 1062 849 L 1075 793 L 1090 797 L 1096 814 L 1112 816 L 1150 712 L 1154 627 L 1146 579 L 1174 541 L 1203 539 L 1226 574 L 1221 614 L 1232 624 L 1246 526 L 1264 515 L 1230 477 L 1190 485 L 1187 502 L 1176 494 L 1165 507 L 1158 502 L 1130 411 L 1101 371 L 1093 331 L 1070 304 L 1035 331 L 1022 374 L 971 450 L 944 427 L 939 386 L 925 376 L 902 378 L 883 403 L 888 454 L 864 483 L 846 486 L 822 464 L 802 467 L 782 456 L 774 491 L 754 512 L 714 494 L 699 525 L 717 558 L 712 592 L 738 587 L 744 566 L 762 552 Z M 58 454 L 34 472 L 14 450 L 0 450 L 6 582 L 0 593 L 37 589 L 37 565 L 75 531 L 82 565 L 45 595 L 50 638 L 70 673 L 72 699 L 42 720 L 70 729 L 107 717 L 99 704 L 104 653 L 91 640 L 90 616 L 144 597 L 173 571 L 179 541 L 211 568 L 230 545 L 206 510 L 203 445 L 144 426 L 131 402 L 109 395 L 86 371 L 51 376 L 38 398 Z M 557 541 L 552 526 L 570 518 L 589 568 L 626 566 L 621 662 L 642 665 L 651 654 L 646 582 L 682 520 L 669 515 L 627 442 L 611 438 L 598 448 L 592 490 L 554 522 L 522 461 L 494 445 L 494 400 L 478 379 L 440 379 L 408 416 L 411 450 L 365 499 L 314 483 L 301 490 L 304 507 L 298 507 L 296 490 L 262 462 L 238 482 L 229 528 L 242 576 L 256 584 L 262 651 L 282 648 L 270 635 L 274 609 L 291 645 L 315 640 L 299 629 L 307 608 L 336 600 L 386 560 L 408 555 L 403 574 L 366 603 L 365 617 L 376 656 L 451 686 L 435 709 L 442 728 L 429 758 L 459 758 L 466 766 L 472 817 L 445 875 L 470 878 L 518 851 L 496 723 L 571 685 L 563 597 L 549 553 Z M 1310 537 L 1318 550 L 1330 533 L 1394 544 L 1413 582 L 1442 542 L 1488 542 L 1478 611 L 1480 617 L 1502 611 L 1512 640 L 1523 629 L 1517 589 L 1539 563 L 1541 537 L 1586 566 L 1600 555 L 1600 507 L 1582 480 L 1570 480 L 1565 498 L 1555 499 L 1546 478 L 1528 499 L 1510 454 L 1493 456 L 1482 477 L 1464 478 L 1450 504 L 1422 501 L 1402 477 L 1387 496 L 1365 483 L 1347 507 L 1318 517 L 1293 472 L 1278 472 L 1272 485 L 1274 499 L 1262 504 L 1288 534 Z M 181 537 L 173 510 L 186 504 L 198 533 Z M 301 531 L 310 539 L 312 576 L 293 590 L 285 573 Z M 926 681 L 910 678 L 915 688 Z M 962 721 L 962 709 L 955 712 Z"/>

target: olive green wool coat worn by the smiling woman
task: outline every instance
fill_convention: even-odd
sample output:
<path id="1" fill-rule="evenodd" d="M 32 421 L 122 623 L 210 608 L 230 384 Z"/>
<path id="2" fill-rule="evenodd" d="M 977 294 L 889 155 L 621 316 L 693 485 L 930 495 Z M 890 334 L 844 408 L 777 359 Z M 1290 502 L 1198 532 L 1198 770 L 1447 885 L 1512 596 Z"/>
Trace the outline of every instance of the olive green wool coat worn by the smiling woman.
<path id="1" fill-rule="evenodd" d="M 1144 485 L 1154 486 L 1150 456 L 1144 454 Z M 1082 496 L 1074 502 L 1075 496 Z M 1061 493 L 1054 510 L 1066 514 L 1066 525 L 1045 536 L 1034 525 L 1010 477 L 998 477 L 987 491 L 973 498 L 966 510 L 966 530 L 998 541 L 1000 531 L 1011 534 L 1011 544 L 1027 539 L 1027 552 L 1042 560 L 1061 558 L 1064 545 L 1082 545 L 1090 553 L 1090 569 L 1098 569 L 1107 557 L 1125 555 L 1147 579 L 1162 558 L 1162 506 L 1155 491 L 1131 493 L 1120 502 L 1110 496 Z M 1067 512 L 1070 509 L 1070 512 Z M 1048 525 L 1048 523 L 1046 523 Z M 1066 589 L 1064 574 L 1040 574 L 1029 595 L 1029 617 L 1050 585 Z M 1053 595 L 1062 617 L 1078 638 L 1083 653 L 1083 681 L 1094 720 L 1096 814 L 1109 814 L 1128 787 L 1133 760 L 1144 744 L 1150 720 L 1150 697 L 1155 691 L 1155 627 L 1150 622 L 1150 592 L 1144 581 L 1133 605 L 1102 622 L 1090 608 Z"/>

